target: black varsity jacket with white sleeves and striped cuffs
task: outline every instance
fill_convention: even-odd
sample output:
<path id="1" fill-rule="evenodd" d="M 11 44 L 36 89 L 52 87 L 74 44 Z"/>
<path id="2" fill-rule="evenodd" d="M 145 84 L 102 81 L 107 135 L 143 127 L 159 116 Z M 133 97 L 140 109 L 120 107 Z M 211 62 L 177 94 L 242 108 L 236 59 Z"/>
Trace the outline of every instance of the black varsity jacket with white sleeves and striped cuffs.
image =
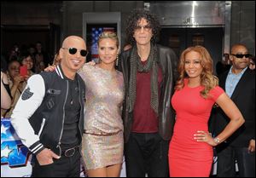
<path id="1" fill-rule="evenodd" d="M 84 81 L 78 75 L 79 133 L 82 138 L 84 130 Z M 69 83 L 64 78 L 61 66 L 54 72 L 41 72 L 28 79 L 26 89 L 22 92 L 11 123 L 22 143 L 29 150 L 38 154 L 44 147 L 61 155 L 61 135 L 63 132 L 65 106 Z"/>

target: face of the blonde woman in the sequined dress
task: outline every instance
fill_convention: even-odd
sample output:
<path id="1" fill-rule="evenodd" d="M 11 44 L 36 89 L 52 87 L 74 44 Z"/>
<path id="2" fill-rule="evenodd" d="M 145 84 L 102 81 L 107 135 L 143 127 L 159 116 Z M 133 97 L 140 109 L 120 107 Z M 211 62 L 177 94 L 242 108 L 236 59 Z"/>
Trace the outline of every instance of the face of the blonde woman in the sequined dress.
<path id="1" fill-rule="evenodd" d="M 105 65 L 113 65 L 119 53 L 116 39 L 102 38 L 98 43 L 98 52 L 101 62 Z"/>

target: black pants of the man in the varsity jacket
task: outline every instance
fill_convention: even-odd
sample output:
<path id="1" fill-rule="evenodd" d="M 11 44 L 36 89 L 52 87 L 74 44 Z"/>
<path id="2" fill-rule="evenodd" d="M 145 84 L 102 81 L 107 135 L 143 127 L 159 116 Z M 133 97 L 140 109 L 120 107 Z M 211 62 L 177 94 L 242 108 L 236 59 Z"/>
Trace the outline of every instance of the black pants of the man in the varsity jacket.
<path id="1" fill-rule="evenodd" d="M 34 158 L 32 164 L 32 177 L 79 177 L 81 154 L 76 151 L 72 157 L 61 156 L 54 159 L 53 164 L 39 165 L 38 159 Z"/>

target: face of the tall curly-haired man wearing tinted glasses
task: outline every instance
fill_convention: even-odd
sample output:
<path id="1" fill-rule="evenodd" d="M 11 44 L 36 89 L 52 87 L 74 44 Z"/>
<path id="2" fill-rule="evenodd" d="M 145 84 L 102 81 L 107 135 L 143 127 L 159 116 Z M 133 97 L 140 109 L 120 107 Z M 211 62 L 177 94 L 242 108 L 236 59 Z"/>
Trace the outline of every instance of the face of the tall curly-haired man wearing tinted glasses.
<path id="1" fill-rule="evenodd" d="M 147 45 L 150 43 L 151 37 L 153 37 L 153 33 L 152 28 L 146 19 L 142 18 L 141 20 L 138 20 L 133 37 L 139 45 Z"/>

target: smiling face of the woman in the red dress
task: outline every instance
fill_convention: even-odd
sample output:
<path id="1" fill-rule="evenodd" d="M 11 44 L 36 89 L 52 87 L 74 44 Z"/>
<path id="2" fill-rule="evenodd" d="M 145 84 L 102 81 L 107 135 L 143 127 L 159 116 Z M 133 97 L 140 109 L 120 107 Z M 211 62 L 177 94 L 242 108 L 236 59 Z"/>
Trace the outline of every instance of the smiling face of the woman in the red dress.
<path id="1" fill-rule="evenodd" d="M 203 67 L 201 66 L 201 55 L 190 51 L 184 57 L 184 69 L 189 78 L 201 78 Z"/>

